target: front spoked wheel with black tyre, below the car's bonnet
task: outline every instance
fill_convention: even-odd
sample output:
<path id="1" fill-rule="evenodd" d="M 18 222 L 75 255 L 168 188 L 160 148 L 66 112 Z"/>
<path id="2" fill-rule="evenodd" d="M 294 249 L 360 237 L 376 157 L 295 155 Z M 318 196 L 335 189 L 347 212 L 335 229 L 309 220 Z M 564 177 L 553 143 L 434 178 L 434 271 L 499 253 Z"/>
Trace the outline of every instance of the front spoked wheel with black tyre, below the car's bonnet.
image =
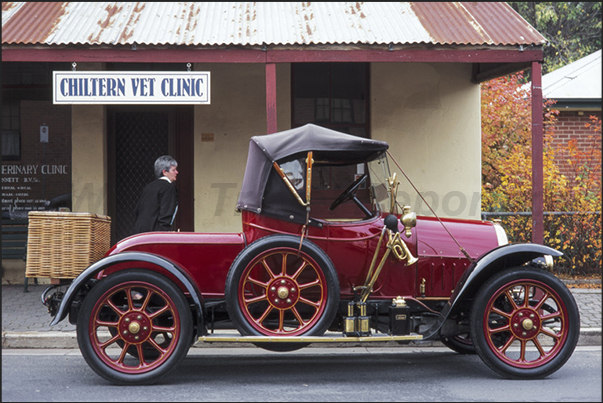
<path id="1" fill-rule="evenodd" d="M 482 360 L 508 378 L 543 378 L 565 364 L 580 336 L 580 314 L 567 287 L 551 273 L 515 267 L 479 290 L 471 335 Z"/>

